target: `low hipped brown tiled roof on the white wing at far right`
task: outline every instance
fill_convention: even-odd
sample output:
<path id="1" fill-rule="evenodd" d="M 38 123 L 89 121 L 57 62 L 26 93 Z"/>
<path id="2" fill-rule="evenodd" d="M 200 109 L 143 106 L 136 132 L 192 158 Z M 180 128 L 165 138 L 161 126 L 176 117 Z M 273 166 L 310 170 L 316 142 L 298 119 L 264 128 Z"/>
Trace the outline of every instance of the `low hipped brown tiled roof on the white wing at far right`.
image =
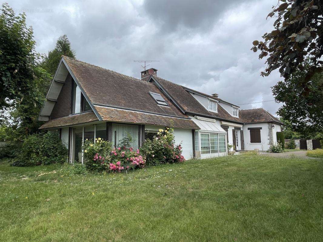
<path id="1" fill-rule="evenodd" d="M 276 122 L 283 124 L 278 118 L 274 117 L 263 108 L 240 110 L 239 116 L 244 123 Z"/>

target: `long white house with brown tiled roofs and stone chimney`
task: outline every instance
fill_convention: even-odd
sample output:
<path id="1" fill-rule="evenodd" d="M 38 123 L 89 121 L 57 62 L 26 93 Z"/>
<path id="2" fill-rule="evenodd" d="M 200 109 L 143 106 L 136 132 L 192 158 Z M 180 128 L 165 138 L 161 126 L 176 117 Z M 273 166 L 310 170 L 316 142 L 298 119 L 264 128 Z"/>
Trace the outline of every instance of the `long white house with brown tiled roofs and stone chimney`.
<path id="1" fill-rule="evenodd" d="M 141 79 L 62 56 L 38 120 L 57 130 L 70 162 L 83 162 L 82 142 L 101 137 L 117 146 L 128 133 L 132 147 L 160 128 L 172 127 L 185 159 L 268 150 L 282 124 L 263 109 L 239 110 L 217 94 L 207 95 L 141 72 Z M 271 128 L 272 127 L 272 128 Z"/>

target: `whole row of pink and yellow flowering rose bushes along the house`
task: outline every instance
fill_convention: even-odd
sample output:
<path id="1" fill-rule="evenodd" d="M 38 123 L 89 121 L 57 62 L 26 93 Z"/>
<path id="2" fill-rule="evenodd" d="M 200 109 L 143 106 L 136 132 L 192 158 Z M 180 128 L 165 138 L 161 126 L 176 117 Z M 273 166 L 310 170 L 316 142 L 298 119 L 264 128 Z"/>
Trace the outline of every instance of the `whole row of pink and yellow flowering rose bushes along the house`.
<path id="1" fill-rule="evenodd" d="M 119 147 L 111 148 L 111 142 L 97 138 L 83 144 L 84 162 L 89 171 L 122 172 L 143 168 L 146 164 L 174 163 L 184 161 L 182 146 L 174 145 L 172 129 L 159 130 L 152 140 L 145 140 L 137 150 L 127 147 L 129 137 L 120 141 Z"/>

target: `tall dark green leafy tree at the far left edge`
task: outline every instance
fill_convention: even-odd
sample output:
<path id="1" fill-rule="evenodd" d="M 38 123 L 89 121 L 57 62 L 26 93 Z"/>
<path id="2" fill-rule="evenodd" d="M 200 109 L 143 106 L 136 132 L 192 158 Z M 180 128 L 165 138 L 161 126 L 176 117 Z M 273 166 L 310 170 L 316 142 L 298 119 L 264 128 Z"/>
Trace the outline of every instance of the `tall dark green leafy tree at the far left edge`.
<path id="1" fill-rule="evenodd" d="M 0 109 L 12 106 L 11 100 L 32 95 L 37 56 L 32 27 L 26 26 L 26 15 L 15 15 L 3 4 L 0 15 Z"/>

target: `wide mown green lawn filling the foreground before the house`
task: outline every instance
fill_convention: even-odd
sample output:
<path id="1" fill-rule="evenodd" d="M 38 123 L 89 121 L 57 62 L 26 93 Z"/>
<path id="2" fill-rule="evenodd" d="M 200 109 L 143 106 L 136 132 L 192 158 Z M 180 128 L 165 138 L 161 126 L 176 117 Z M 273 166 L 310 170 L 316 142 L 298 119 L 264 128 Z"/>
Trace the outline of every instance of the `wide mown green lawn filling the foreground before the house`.
<path id="1" fill-rule="evenodd" d="M 63 176 L 0 164 L 0 241 L 323 241 L 323 160 L 247 153 Z"/>

